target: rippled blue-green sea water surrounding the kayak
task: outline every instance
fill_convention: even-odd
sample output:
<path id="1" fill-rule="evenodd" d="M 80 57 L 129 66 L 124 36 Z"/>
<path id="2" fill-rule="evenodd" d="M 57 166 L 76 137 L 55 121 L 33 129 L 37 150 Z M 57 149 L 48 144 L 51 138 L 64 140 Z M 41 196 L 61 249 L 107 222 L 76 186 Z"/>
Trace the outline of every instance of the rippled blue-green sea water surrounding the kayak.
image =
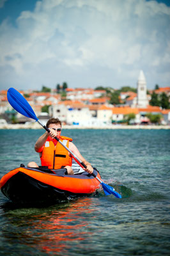
<path id="1" fill-rule="evenodd" d="M 1 130 L 0 176 L 34 152 L 42 130 Z M 122 199 L 19 207 L 0 193 L 0 255 L 169 255 L 169 130 L 63 130 Z M 120 186 L 121 184 L 121 186 Z"/>

